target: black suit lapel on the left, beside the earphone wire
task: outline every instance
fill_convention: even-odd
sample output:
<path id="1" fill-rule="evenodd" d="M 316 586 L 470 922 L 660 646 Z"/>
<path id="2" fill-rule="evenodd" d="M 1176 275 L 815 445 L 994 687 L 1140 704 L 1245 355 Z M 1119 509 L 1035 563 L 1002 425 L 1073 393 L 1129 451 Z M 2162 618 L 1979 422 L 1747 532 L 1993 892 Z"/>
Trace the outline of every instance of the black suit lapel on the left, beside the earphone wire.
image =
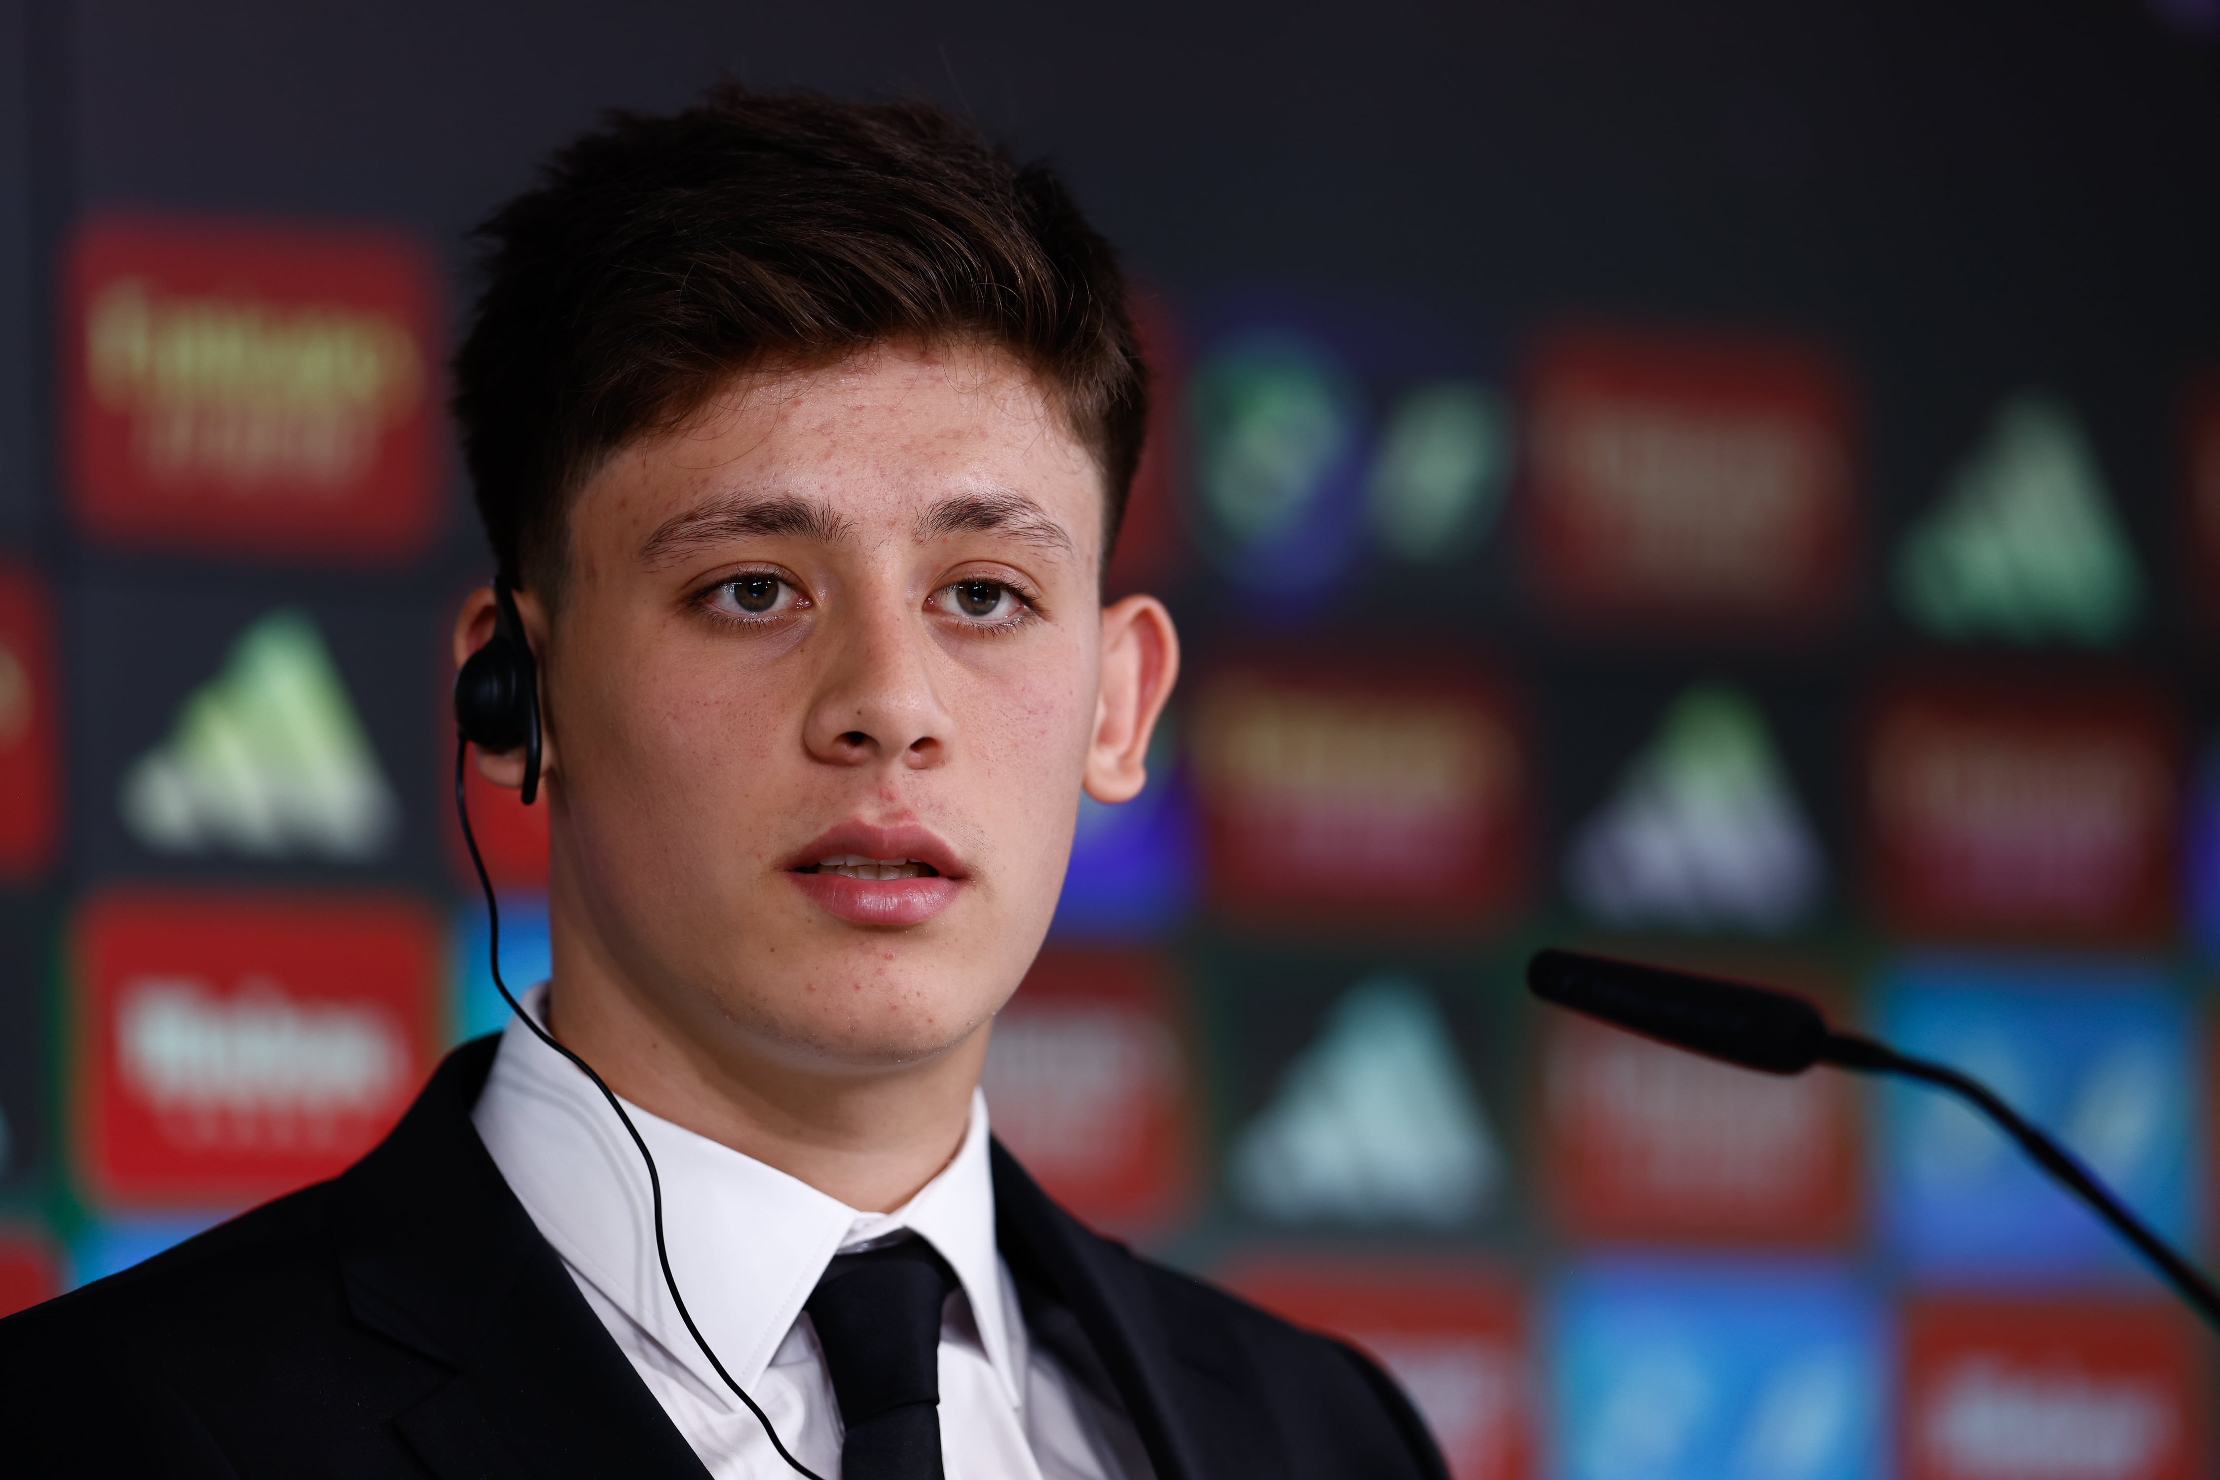
<path id="1" fill-rule="evenodd" d="M 442 1480 L 706 1480 L 471 1125 L 495 1043 L 448 1054 L 340 1178 L 355 1318 L 446 1369 L 393 1425 Z"/>

